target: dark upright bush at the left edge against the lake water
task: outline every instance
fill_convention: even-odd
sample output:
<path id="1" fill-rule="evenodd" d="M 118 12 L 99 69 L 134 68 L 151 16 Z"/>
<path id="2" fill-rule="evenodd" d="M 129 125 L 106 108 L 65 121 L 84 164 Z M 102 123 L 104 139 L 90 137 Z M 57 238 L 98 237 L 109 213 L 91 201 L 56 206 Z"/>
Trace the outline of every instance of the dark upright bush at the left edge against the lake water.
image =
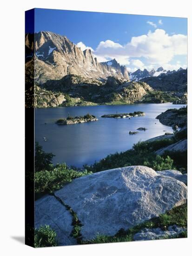
<path id="1" fill-rule="evenodd" d="M 42 150 L 42 146 L 38 142 L 35 142 L 35 172 L 39 172 L 41 170 L 51 170 L 52 166 L 52 153 L 45 153 Z"/>

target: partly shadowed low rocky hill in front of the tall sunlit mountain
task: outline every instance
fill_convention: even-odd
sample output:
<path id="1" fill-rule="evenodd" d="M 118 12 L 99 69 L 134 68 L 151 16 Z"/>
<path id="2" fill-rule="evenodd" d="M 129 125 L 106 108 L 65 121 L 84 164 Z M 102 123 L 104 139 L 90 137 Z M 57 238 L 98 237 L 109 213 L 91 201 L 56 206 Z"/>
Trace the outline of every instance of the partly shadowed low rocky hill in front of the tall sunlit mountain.
<path id="1" fill-rule="evenodd" d="M 152 90 L 143 82 L 125 82 L 110 76 L 102 83 L 93 78 L 74 74 L 66 75 L 60 80 L 47 81 L 43 87 L 55 93 L 67 94 L 72 101 L 79 98 L 81 102 L 93 104 L 132 104 L 142 101 L 142 98 Z"/>

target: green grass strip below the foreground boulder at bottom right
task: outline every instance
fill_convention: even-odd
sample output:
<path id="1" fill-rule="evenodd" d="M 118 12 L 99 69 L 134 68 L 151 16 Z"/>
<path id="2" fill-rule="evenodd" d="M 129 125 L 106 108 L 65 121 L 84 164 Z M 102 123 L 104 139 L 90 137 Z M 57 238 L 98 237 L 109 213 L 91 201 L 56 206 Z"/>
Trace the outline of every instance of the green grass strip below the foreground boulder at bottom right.
<path id="1" fill-rule="evenodd" d="M 118 242 L 129 242 L 133 241 L 133 236 L 138 233 L 141 229 L 155 229 L 161 228 L 167 230 L 168 226 L 178 225 L 180 227 L 187 228 L 187 204 L 175 207 L 165 214 L 161 214 L 159 217 L 152 218 L 149 221 L 143 222 L 131 229 L 124 230 L 120 229 L 117 234 L 114 236 L 104 236 L 98 234 L 95 239 L 81 241 L 82 244 L 90 243 L 118 243 Z M 181 234 L 175 237 L 164 236 L 161 239 L 166 238 L 177 238 L 177 237 L 187 237 L 187 232 L 182 232 Z"/>

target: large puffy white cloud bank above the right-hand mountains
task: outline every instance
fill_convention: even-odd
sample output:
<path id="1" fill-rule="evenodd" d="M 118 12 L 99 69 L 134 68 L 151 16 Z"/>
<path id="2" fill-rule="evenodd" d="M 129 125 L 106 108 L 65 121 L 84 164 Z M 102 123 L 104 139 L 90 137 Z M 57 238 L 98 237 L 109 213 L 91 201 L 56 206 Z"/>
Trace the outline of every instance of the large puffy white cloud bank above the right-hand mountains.
<path id="1" fill-rule="evenodd" d="M 175 55 L 187 54 L 187 37 L 183 34 L 169 35 L 163 29 L 132 37 L 126 45 L 112 40 L 101 41 L 94 51 L 97 56 L 116 58 L 120 64 L 128 65 L 131 57 L 145 58 L 146 66 L 163 66 Z"/>

